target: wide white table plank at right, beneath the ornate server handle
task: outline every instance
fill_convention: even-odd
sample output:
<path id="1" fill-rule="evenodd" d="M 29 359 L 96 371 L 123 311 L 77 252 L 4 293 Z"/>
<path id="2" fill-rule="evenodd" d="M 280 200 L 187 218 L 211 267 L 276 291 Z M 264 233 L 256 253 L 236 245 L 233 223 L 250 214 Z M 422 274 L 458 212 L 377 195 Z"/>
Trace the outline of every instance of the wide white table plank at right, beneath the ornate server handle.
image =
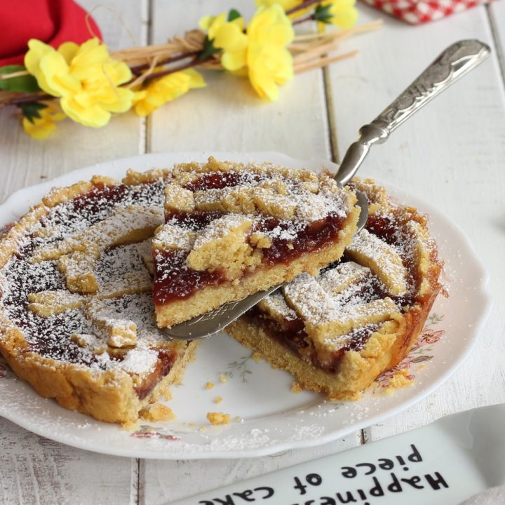
<path id="1" fill-rule="evenodd" d="M 372 148 L 362 174 L 424 198 L 468 234 L 487 271 L 494 310 L 471 358 L 452 379 L 415 407 L 367 433 L 368 440 L 427 424 L 440 416 L 505 401 L 505 100 L 485 7 L 411 27 L 366 6 L 361 21 L 384 18 L 384 29 L 350 40 L 352 60 L 332 67 L 337 142 L 344 152 L 370 122 L 450 43 L 476 38 L 494 53 L 481 67 L 437 97 Z M 503 23 L 501 23 L 503 27 Z M 429 367 L 429 365 L 428 365 Z"/>

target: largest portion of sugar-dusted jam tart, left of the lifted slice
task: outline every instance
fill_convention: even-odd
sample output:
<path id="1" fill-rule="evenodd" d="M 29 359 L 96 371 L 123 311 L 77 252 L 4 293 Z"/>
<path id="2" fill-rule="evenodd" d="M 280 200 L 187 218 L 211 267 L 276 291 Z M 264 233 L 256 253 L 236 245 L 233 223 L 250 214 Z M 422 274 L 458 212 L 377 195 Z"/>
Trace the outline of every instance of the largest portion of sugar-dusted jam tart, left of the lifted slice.
<path id="1" fill-rule="evenodd" d="M 191 356 L 194 344 L 163 337 L 152 303 L 168 176 L 55 189 L 0 241 L 0 353 L 65 408 L 135 422 Z"/>

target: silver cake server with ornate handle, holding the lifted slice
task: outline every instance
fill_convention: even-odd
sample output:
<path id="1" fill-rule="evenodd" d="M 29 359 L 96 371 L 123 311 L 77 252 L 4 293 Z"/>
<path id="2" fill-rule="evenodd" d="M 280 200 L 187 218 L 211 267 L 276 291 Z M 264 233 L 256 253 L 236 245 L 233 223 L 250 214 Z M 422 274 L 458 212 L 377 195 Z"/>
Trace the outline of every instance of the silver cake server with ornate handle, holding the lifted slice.
<path id="1" fill-rule="evenodd" d="M 393 130 L 424 107 L 430 100 L 447 89 L 452 83 L 480 65 L 491 53 L 487 44 L 478 40 L 462 40 L 453 43 L 413 81 L 403 93 L 386 107 L 371 123 L 359 130 L 359 140 L 347 149 L 340 164 L 335 180 L 347 184 L 363 163 L 373 144 L 386 142 Z M 361 213 L 358 219 L 358 231 L 363 229 L 368 219 L 368 200 L 362 191 L 356 191 Z M 273 286 L 265 291 L 256 292 L 236 302 L 229 302 L 218 309 L 196 316 L 177 324 L 172 328 L 163 328 L 161 332 L 173 339 L 201 339 L 219 332 L 227 325 L 254 307 L 264 297 L 281 286 Z"/>

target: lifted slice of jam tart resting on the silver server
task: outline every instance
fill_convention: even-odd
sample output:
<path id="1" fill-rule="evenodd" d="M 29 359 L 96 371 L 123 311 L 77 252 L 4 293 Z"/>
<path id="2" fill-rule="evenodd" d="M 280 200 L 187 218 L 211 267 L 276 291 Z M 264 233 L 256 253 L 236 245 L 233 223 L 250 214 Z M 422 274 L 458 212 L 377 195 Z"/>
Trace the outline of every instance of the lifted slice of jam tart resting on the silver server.
<path id="1" fill-rule="evenodd" d="M 308 170 L 219 162 L 175 166 L 156 231 L 161 328 L 338 260 L 356 231 L 351 189 Z"/>

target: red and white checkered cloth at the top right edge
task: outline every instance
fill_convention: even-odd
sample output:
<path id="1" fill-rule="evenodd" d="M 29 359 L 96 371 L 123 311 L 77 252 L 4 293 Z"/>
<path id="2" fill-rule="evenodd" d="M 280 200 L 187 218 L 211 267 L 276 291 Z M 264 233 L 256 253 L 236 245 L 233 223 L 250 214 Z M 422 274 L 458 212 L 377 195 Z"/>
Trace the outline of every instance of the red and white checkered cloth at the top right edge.
<path id="1" fill-rule="evenodd" d="M 485 0 L 363 0 L 412 25 L 438 20 L 483 4 Z"/>

